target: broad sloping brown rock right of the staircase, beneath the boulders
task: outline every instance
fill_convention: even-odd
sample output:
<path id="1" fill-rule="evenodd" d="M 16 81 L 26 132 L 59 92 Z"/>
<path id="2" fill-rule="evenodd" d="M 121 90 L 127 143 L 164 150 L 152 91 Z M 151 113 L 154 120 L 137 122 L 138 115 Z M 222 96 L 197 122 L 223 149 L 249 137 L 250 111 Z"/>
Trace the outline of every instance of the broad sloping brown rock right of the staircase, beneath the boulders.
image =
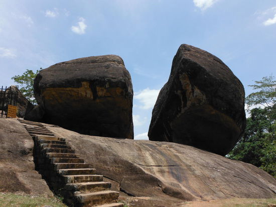
<path id="1" fill-rule="evenodd" d="M 80 157 L 103 174 L 104 181 L 112 182 L 111 189 L 120 189 L 119 199 L 128 194 L 143 200 L 133 206 L 182 206 L 185 200 L 276 195 L 276 180 L 265 171 L 192 146 L 47 128 L 55 136 L 66 137 Z"/>

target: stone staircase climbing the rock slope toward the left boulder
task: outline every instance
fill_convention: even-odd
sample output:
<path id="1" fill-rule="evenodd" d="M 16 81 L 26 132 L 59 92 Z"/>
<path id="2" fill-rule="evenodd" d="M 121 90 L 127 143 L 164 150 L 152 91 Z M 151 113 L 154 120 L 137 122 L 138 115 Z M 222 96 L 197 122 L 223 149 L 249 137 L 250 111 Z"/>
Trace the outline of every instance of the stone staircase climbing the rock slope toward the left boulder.
<path id="1" fill-rule="evenodd" d="M 65 138 L 54 136 L 41 123 L 19 121 L 33 136 L 36 170 L 56 195 L 64 197 L 65 203 L 73 207 L 123 207 L 123 203 L 115 202 L 119 192 L 110 190 L 111 183 L 89 168 Z"/>

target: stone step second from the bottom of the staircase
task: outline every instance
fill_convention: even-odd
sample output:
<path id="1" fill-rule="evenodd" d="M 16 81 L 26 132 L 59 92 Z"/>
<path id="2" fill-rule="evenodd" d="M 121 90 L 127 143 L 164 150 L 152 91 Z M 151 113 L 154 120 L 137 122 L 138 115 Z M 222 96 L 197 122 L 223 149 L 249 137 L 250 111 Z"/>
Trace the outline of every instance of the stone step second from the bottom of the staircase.
<path id="1" fill-rule="evenodd" d="M 78 202 L 89 205 L 105 204 L 116 200 L 119 197 L 119 192 L 113 190 L 104 190 L 90 193 L 80 193 L 75 195 Z"/>

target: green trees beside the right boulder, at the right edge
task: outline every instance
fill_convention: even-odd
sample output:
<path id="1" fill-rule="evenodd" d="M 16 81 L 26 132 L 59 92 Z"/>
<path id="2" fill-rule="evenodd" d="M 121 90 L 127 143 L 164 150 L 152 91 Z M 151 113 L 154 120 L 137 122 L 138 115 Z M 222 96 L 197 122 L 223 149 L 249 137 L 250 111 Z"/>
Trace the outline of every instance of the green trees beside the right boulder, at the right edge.
<path id="1" fill-rule="evenodd" d="M 253 164 L 276 177 L 276 81 L 271 75 L 250 86 L 259 91 L 245 99 L 250 117 L 244 135 L 227 157 Z M 258 104 L 264 108 L 249 109 Z"/>

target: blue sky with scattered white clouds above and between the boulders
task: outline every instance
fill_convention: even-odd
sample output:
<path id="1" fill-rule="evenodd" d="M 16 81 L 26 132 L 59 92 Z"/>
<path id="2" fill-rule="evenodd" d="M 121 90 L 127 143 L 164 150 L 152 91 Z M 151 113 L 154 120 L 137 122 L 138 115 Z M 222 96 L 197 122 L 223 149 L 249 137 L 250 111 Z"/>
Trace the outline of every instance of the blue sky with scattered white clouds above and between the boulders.
<path id="1" fill-rule="evenodd" d="M 152 109 L 181 44 L 220 58 L 248 85 L 276 72 L 275 0 L 1 0 L 0 87 L 26 69 L 118 55 L 133 85 L 134 139 L 148 139 Z"/>

